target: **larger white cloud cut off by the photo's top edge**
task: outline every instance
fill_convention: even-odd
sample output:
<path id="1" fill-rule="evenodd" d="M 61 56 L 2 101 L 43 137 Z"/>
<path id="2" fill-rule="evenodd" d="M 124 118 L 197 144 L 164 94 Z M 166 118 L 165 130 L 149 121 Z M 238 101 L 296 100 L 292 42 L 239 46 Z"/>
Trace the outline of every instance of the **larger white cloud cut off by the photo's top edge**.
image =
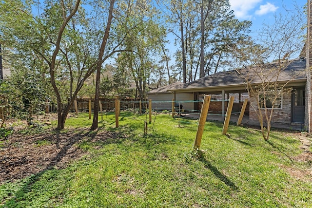
<path id="1" fill-rule="evenodd" d="M 262 0 L 230 0 L 231 9 L 238 19 L 251 19 L 249 12 Z"/>

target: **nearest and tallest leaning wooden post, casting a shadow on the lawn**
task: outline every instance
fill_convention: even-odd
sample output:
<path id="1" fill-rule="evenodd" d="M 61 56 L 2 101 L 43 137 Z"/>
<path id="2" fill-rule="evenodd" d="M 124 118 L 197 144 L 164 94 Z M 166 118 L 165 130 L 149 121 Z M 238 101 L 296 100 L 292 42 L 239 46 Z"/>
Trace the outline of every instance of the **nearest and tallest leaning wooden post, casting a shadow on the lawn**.
<path id="1" fill-rule="evenodd" d="M 204 127 L 205 127 L 205 123 L 206 123 L 206 119 L 207 119 L 207 113 L 208 113 L 208 109 L 209 109 L 210 99 L 211 99 L 211 95 L 205 95 L 204 96 L 204 103 L 201 107 L 199 123 L 198 123 L 198 127 L 197 127 L 195 143 L 194 143 L 194 148 L 198 149 L 198 150 L 199 150 L 201 138 L 202 138 L 203 132 L 204 132 Z"/>

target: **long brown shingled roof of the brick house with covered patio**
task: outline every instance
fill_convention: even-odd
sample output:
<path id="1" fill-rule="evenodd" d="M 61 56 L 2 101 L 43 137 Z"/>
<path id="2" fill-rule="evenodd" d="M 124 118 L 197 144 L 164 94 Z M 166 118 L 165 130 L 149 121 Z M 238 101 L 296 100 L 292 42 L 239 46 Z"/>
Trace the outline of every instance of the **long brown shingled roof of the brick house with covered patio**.
<path id="1" fill-rule="evenodd" d="M 246 81 L 243 76 L 248 77 L 252 84 L 257 85 L 262 83 L 261 76 L 265 75 L 266 82 L 279 82 L 286 83 L 290 81 L 290 85 L 304 85 L 306 82 L 305 59 L 295 59 L 292 61 L 284 62 L 283 70 L 280 70 L 278 76 L 276 73 L 279 71 L 280 65 L 277 63 L 271 63 L 266 68 L 260 68 L 258 66 L 252 68 L 243 68 L 239 70 L 227 71 L 215 73 L 210 76 L 205 76 L 200 79 L 196 79 L 192 82 L 185 83 L 183 85 L 172 86 L 169 91 L 173 92 L 222 92 L 227 91 L 246 91 Z M 243 75 L 243 76 L 242 76 Z M 262 76 L 263 78 L 264 76 Z"/>

